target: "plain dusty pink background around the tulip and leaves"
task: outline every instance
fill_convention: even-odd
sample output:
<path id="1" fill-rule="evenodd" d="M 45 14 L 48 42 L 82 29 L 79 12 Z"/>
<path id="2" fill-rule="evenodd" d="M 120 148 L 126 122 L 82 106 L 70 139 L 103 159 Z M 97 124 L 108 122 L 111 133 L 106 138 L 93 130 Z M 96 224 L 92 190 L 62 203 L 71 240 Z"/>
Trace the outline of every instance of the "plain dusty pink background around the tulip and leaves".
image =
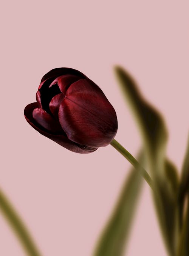
<path id="1" fill-rule="evenodd" d="M 89 256 L 130 167 L 111 146 L 81 155 L 25 121 L 40 79 L 72 67 L 104 91 L 120 141 L 136 155 L 138 129 L 113 74 L 121 64 L 163 113 L 167 154 L 181 167 L 189 128 L 189 2 L 186 0 L 7 1 L 2 8 L 0 186 L 45 256 Z M 0 255 L 23 256 L 0 215 Z M 127 255 L 166 255 L 145 185 Z"/>

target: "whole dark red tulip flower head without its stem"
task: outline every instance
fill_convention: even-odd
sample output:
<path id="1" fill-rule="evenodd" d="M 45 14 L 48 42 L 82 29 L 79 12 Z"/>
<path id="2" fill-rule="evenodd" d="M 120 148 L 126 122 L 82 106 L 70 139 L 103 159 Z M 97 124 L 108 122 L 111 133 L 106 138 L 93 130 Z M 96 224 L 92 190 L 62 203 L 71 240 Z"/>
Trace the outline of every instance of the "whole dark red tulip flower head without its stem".
<path id="1" fill-rule="evenodd" d="M 64 148 L 90 153 L 116 135 L 114 108 L 102 90 L 75 69 L 56 68 L 44 75 L 36 99 L 25 107 L 26 120 Z"/>

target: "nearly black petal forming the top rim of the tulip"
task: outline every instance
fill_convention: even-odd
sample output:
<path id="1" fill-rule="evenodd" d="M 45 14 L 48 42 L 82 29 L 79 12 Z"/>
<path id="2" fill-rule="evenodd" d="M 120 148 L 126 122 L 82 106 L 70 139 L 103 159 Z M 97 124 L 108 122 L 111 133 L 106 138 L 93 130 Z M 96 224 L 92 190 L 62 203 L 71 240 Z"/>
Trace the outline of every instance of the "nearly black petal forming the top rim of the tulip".
<path id="1" fill-rule="evenodd" d="M 50 79 L 53 77 L 55 79 L 56 77 L 60 77 L 61 75 L 76 75 L 81 78 L 86 78 L 84 74 L 73 68 L 54 68 L 42 77 L 41 83 L 46 79 Z"/>

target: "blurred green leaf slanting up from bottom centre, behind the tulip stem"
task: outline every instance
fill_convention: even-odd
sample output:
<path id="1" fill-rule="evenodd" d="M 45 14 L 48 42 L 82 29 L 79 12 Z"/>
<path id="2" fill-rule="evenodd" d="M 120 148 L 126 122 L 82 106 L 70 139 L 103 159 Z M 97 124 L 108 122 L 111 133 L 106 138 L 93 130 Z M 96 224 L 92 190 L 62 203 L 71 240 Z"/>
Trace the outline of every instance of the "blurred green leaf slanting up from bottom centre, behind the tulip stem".
<path id="1" fill-rule="evenodd" d="M 139 162 L 143 163 L 143 156 Z M 142 164 L 143 165 L 143 164 Z M 142 166 L 141 165 L 141 166 Z M 139 167 L 141 168 L 141 167 Z M 141 170 L 132 170 L 122 188 L 118 203 L 95 249 L 94 256 L 122 256 L 129 239 L 136 203 L 141 192 Z"/>

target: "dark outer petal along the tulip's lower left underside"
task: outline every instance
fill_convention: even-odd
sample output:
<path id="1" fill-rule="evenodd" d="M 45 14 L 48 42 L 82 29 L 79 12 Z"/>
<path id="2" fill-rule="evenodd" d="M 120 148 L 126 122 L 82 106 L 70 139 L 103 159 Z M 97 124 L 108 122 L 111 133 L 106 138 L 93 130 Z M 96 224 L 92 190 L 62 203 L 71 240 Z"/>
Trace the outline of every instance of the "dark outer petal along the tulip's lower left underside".
<path id="1" fill-rule="evenodd" d="M 39 133 L 44 135 L 47 138 L 50 138 L 51 140 L 55 141 L 56 143 L 60 144 L 60 146 L 63 146 L 64 148 L 67 148 L 70 151 L 76 152 L 76 153 L 81 153 L 81 154 L 87 154 L 92 151 L 95 151 L 96 149 L 88 149 L 85 147 L 85 149 L 80 148 L 75 144 L 73 141 L 69 140 L 67 137 L 64 135 L 54 135 L 51 133 L 46 132 L 43 130 L 43 128 L 37 124 L 37 122 L 33 118 L 33 110 L 35 108 L 39 107 L 39 104 L 37 102 L 31 103 L 25 107 L 24 110 L 24 115 L 28 123 L 36 129 Z M 88 150 L 88 151 L 87 151 Z"/>

